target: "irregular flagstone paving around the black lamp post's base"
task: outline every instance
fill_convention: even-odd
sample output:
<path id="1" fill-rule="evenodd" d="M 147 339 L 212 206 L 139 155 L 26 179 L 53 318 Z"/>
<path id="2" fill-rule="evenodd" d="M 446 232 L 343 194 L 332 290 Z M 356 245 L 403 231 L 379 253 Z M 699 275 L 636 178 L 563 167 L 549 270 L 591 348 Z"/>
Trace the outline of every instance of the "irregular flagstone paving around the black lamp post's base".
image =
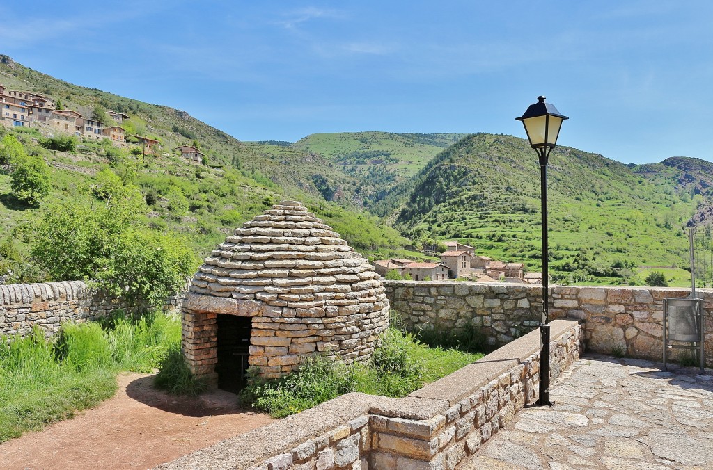
<path id="1" fill-rule="evenodd" d="M 458 470 L 713 469 L 713 371 L 589 355 Z"/>

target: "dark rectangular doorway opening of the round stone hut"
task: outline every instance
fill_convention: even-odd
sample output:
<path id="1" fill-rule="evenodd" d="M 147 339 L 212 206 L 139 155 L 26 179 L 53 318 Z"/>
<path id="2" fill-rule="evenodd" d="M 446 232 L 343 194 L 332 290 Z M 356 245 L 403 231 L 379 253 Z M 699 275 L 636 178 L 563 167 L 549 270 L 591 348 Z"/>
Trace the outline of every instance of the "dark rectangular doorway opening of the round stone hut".
<path id="1" fill-rule="evenodd" d="M 237 393 L 245 387 L 251 324 L 250 317 L 218 315 L 218 363 L 215 372 L 221 390 Z"/>

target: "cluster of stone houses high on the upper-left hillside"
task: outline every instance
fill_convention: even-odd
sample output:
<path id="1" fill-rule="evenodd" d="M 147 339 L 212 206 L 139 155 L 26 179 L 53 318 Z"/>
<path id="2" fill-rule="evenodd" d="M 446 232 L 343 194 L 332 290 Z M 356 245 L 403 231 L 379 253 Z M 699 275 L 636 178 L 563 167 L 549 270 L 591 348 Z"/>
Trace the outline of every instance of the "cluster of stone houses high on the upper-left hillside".
<path id="1" fill-rule="evenodd" d="M 5 127 L 35 128 L 46 137 L 56 133 L 80 137 L 83 140 L 108 139 L 114 147 L 137 147 L 144 155 L 158 152 L 160 140 L 143 135 L 129 134 L 121 126 L 130 117 L 125 113 L 108 110 L 112 122 L 102 122 L 96 116 L 86 117 L 76 110 L 61 109 L 51 98 L 20 90 L 7 90 L 0 83 L 2 125 Z M 181 145 L 173 149 L 193 164 L 203 164 L 203 154 L 197 147 Z"/>

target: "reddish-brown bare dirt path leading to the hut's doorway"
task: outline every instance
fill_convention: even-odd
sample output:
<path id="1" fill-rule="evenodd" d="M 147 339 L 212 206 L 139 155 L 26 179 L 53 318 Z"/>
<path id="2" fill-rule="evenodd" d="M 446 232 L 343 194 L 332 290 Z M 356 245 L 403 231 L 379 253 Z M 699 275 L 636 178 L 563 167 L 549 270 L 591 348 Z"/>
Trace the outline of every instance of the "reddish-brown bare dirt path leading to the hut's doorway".
<path id="1" fill-rule="evenodd" d="M 1 469 L 146 469 L 272 421 L 218 390 L 198 399 L 123 374 L 116 395 L 74 419 L 0 444 Z"/>

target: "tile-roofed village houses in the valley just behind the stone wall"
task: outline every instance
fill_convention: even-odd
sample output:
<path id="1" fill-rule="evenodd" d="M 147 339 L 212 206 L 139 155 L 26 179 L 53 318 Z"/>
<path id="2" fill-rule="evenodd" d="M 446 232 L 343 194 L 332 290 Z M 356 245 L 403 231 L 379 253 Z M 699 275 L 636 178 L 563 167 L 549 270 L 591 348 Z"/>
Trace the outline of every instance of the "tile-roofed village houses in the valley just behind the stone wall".
<path id="1" fill-rule="evenodd" d="M 458 241 L 444 241 L 443 244 L 446 251 L 440 254 L 441 261 L 381 259 L 374 261 L 374 271 L 384 277 L 396 275 L 414 281 L 465 279 L 476 282 L 542 283 L 542 273 L 525 273 L 524 263 L 504 263 L 488 256 L 476 255 L 475 247 Z"/>

